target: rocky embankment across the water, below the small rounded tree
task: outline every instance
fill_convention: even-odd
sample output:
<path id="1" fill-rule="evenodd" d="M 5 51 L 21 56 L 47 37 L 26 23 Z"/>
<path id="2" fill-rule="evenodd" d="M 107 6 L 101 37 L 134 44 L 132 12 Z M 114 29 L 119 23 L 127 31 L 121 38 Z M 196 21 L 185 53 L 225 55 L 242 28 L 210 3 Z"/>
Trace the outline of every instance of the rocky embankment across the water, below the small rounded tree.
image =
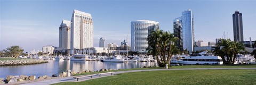
<path id="1" fill-rule="evenodd" d="M 48 63 L 48 61 L 45 61 L 45 60 L 35 60 L 35 59 L 4 60 L 4 61 L 0 61 L 0 66 L 30 65 L 30 64 L 41 64 L 41 63 Z"/>

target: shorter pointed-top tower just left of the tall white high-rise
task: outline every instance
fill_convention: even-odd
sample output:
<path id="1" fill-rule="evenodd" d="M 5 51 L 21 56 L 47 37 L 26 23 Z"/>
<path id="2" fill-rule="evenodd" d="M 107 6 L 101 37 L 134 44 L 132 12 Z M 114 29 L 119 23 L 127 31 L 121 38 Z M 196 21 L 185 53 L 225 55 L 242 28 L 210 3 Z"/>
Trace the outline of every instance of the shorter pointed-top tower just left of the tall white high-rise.
<path id="1" fill-rule="evenodd" d="M 59 48 L 70 49 L 70 21 L 62 20 L 59 27 Z"/>

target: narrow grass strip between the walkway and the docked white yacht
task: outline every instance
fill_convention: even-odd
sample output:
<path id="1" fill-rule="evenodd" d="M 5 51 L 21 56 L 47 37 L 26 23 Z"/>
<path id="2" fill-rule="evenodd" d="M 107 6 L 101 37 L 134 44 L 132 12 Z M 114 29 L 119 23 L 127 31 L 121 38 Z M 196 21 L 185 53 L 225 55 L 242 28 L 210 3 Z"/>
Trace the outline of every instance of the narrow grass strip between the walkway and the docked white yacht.
<path id="1" fill-rule="evenodd" d="M 256 64 L 237 64 L 237 65 L 184 65 L 171 66 L 171 69 L 185 69 L 185 68 L 256 68 Z"/>

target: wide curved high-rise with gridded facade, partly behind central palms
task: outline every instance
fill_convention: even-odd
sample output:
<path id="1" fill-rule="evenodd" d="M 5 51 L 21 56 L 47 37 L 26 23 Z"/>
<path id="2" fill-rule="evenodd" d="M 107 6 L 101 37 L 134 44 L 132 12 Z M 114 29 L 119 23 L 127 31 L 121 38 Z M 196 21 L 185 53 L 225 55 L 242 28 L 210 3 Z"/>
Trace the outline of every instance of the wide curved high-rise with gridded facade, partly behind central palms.
<path id="1" fill-rule="evenodd" d="M 131 51 L 145 51 L 148 48 L 148 35 L 156 31 L 159 23 L 150 20 L 137 20 L 131 22 Z"/>

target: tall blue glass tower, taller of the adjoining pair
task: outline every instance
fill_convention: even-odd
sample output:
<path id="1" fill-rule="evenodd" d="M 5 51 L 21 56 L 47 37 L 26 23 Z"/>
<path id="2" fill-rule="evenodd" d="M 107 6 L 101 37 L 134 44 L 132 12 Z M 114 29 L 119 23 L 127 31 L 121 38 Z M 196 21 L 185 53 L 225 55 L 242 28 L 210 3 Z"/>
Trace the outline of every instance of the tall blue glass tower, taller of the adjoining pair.
<path id="1" fill-rule="evenodd" d="M 189 53 L 193 52 L 194 48 L 194 15 L 191 10 L 182 12 L 182 41 L 183 49 L 187 49 Z"/>

